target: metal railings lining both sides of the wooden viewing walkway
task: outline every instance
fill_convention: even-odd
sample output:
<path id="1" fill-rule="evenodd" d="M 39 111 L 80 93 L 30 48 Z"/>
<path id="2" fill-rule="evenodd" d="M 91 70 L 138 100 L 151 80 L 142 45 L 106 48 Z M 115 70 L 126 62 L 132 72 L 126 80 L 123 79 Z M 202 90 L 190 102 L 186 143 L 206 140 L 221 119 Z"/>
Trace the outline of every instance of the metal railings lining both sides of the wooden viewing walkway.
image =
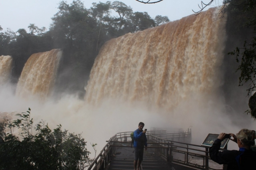
<path id="1" fill-rule="evenodd" d="M 184 132 L 182 137 L 191 138 L 191 130 Z M 167 133 L 168 136 L 179 136 L 181 133 Z M 111 137 L 101 150 L 100 154 L 94 159 L 88 170 L 105 170 L 109 166 L 111 155 L 115 152 L 115 147 L 130 147 L 124 145 L 116 145 L 118 143 L 130 143 L 131 132 L 117 133 Z M 225 165 L 219 165 L 211 160 L 209 157 L 209 148 L 206 146 L 188 144 L 184 142 L 178 142 L 168 140 L 166 138 L 166 130 L 161 129 L 147 131 L 148 144 L 152 144 L 156 153 L 158 153 L 167 162 L 172 162 L 180 165 L 185 165 L 202 170 L 225 170 Z M 165 135 L 165 136 L 164 136 Z M 152 143 L 150 143 L 152 142 Z"/>

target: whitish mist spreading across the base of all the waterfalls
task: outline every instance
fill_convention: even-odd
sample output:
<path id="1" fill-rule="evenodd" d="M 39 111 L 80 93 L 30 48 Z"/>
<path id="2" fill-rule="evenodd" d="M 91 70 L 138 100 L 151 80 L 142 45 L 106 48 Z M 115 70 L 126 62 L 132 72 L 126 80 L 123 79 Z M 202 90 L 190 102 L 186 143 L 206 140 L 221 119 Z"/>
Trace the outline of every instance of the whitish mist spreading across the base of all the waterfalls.
<path id="1" fill-rule="evenodd" d="M 34 124 L 44 120 L 50 129 L 61 124 L 63 129 L 76 134 L 82 133 L 87 141 L 87 149 L 94 157 L 90 143 L 97 143 L 97 153 L 105 146 L 106 140 L 118 132 L 134 131 L 139 122 L 145 123 L 145 128 L 183 128 L 192 126 L 192 144 L 200 145 L 208 133 L 237 133 L 242 128 L 255 129 L 255 122 L 249 115 L 236 114 L 229 116 L 221 100 L 212 97 L 204 102 L 202 96 L 193 95 L 190 99 L 168 113 L 160 108 L 150 108 L 143 103 L 120 103 L 115 100 L 104 101 L 95 107 L 79 100 L 76 96 L 65 96 L 59 101 L 51 99 L 24 100 L 13 95 L 11 86 L 0 90 L 1 112 L 26 112 L 31 108 Z M 201 102 L 199 102 L 201 100 Z M 200 103 L 200 104 L 198 104 Z M 1 113 L 0 113 L 1 114 Z M 235 114 L 235 113 L 233 113 Z M 235 118 L 234 118 L 235 117 Z M 239 117 L 239 118 L 237 118 Z M 17 117 L 12 115 L 13 119 Z M 233 144 L 232 144 L 233 143 Z M 228 149 L 237 149 L 237 144 L 230 141 Z"/>

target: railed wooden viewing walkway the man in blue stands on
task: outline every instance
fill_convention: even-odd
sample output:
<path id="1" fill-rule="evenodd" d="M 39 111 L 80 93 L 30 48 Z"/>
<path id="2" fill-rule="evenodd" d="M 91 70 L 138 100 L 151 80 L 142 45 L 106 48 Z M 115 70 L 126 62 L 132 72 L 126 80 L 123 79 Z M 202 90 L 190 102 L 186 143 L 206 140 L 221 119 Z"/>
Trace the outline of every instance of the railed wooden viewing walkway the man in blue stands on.
<path id="1" fill-rule="evenodd" d="M 111 137 L 88 170 L 132 170 L 134 148 L 131 132 Z M 209 147 L 190 144 L 191 129 L 151 128 L 146 132 L 148 149 L 144 151 L 141 170 L 225 170 L 209 157 Z"/>

